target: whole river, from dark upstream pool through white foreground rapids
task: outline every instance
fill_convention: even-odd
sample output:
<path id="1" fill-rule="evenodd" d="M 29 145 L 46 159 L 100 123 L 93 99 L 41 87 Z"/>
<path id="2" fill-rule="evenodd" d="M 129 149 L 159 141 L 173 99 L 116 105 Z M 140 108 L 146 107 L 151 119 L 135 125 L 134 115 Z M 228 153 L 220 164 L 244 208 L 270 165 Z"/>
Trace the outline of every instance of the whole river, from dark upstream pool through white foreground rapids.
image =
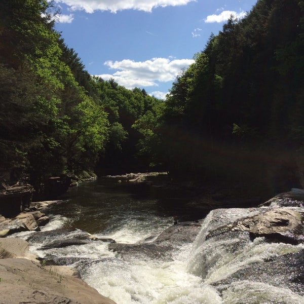
<path id="1" fill-rule="evenodd" d="M 182 217 L 183 213 L 186 220 L 201 217 L 201 214 L 195 215 L 191 210 L 181 208 L 181 204 L 174 204 L 179 195 L 172 195 L 166 205 L 161 192 L 150 187 L 125 187 L 122 183 L 103 179 L 85 182 L 69 189 L 62 203 L 52 205 L 49 210 L 51 221 L 42 231 L 70 229 L 64 232 L 64 236 L 57 235 L 56 238 L 71 238 L 81 230 L 117 243 L 153 242 L 162 231 L 172 226 L 172 215 Z M 224 224 L 246 216 L 247 212 L 235 208 L 231 209 L 229 216 L 224 212 L 217 216 Z M 212 225 L 215 221 L 211 212 L 202 221 L 196 241 L 175 246 L 172 258 L 165 255 L 149 258 L 140 253 L 121 255 L 109 250 L 107 242 L 42 250 L 50 242 L 48 237 L 32 240 L 30 250 L 42 259 L 51 257 L 77 268 L 84 281 L 117 304 L 304 303 L 302 296 L 287 287 L 282 289 L 267 282 L 242 279 L 230 282 L 228 288 L 227 283 L 218 288 L 217 282 L 252 263 L 282 252 L 300 252 L 304 247 L 269 244 L 261 238 L 246 245 L 243 245 L 242 238 L 206 242 L 205 236 Z M 23 233 L 24 238 L 27 235 Z M 222 293 L 219 290 L 223 290 Z"/>

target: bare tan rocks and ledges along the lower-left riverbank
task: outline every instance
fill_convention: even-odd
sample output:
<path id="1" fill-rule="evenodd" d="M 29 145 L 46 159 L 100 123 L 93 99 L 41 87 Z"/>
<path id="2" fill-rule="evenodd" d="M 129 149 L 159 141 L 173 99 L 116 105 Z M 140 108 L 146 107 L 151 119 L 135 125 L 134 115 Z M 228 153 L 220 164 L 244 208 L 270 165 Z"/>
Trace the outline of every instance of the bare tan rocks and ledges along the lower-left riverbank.
<path id="1" fill-rule="evenodd" d="M 70 267 L 45 265 L 28 252 L 29 244 L 19 238 L 5 238 L 22 231 L 39 231 L 49 218 L 43 210 L 58 201 L 32 203 L 29 212 L 14 218 L 0 217 L 1 302 L 115 304 L 79 278 Z"/>

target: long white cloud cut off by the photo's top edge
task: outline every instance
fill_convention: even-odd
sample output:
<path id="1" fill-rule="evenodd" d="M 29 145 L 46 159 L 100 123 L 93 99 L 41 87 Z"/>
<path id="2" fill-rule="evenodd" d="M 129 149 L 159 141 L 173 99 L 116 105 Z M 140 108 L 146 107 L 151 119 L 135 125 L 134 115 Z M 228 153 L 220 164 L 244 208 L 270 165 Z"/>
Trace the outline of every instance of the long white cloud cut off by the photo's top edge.
<path id="1" fill-rule="evenodd" d="M 139 10 L 151 12 L 157 7 L 180 6 L 196 0 L 57 0 L 64 3 L 71 10 L 84 10 L 87 13 L 94 11 L 110 11 L 116 13 L 123 10 Z"/>

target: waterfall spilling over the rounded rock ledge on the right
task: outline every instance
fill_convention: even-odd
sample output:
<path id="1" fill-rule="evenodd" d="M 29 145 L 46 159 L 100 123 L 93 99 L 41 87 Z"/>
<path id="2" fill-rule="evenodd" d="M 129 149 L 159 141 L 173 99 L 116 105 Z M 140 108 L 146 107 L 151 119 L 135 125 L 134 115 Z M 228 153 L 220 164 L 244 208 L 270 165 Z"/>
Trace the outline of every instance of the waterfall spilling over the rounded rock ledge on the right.
<path id="1" fill-rule="evenodd" d="M 247 232 L 225 231 L 236 219 L 258 212 L 260 208 L 211 211 L 194 242 L 187 271 L 214 287 L 223 304 L 302 304 L 303 290 L 299 295 L 288 288 L 297 289 L 293 286 L 296 276 L 287 281 L 290 273 L 296 272 L 288 267 L 302 256 L 303 244 L 267 242 L 263 237 L 250 240 Z"/>

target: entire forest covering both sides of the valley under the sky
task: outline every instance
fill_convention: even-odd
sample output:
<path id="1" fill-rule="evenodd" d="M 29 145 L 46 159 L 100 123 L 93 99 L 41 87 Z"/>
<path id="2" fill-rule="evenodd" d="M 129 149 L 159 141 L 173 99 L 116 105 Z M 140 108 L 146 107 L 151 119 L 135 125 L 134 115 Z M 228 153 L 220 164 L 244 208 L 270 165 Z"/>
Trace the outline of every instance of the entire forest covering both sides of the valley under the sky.
<path id="1" fill-rule="evenodd" d="M 90 75 L 46 0 L 0 3 L 0 181 L 165 170 L 304 186 L 304 1 L 259 0 L 211 34 L 165 101 Z"/>

